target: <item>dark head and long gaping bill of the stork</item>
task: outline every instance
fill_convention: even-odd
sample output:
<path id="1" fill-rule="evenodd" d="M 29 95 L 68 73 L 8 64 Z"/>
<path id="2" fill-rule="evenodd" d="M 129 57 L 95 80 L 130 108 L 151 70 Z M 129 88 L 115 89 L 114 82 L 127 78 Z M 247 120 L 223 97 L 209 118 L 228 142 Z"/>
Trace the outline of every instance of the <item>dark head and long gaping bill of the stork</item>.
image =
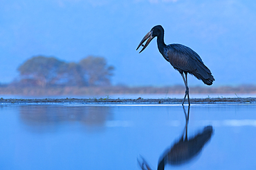
<path id="1" fill-rule="evenodd" d="M 138 45 L 137 49 L 140 47 L 140 45 L 143 46 L 143 49 L 140 51 L 142 52 L 147 45 L 149 45 L 150 41 L 152 41 L 152 39 L 154 39 L 154 37 L 159 36 L 161 33 L 163 32 L 163 27 L 161 25 L 156 25 L 154 26 L 154 28 L 152 28 L 143 38 L 142 41 L 140 41 L 140 44 Z M 145 45 L 143 45 L 143 43 L 147 40 L 147 42 L 145 43 Z M 139 52 L 139 53 L 140 53 Z"/>

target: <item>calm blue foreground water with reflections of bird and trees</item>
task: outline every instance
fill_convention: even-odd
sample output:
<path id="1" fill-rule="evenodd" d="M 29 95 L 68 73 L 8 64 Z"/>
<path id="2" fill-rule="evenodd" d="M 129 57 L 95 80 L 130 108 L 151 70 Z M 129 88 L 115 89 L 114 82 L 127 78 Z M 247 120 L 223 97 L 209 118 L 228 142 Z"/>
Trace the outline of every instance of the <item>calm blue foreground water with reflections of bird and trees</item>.
<path id="1" fill-rule="evenodd" d="M 0 110 L 0 169 L 157 169 L 165 153 L 165 169 L 256 167 L 256 105 L 192 105 L 189 121 L 181 105 Z"/>

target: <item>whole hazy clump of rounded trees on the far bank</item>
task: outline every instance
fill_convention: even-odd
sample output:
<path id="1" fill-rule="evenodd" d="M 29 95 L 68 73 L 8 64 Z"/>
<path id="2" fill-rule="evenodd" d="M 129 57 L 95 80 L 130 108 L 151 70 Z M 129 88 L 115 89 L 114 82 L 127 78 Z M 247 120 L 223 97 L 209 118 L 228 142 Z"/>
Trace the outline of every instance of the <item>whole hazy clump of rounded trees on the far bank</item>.
<path id="1" fill-rule="evenodd" d="M 103 57 L 88 56 L 80 63 L 66 63 L 54 57 L 34 56 L 19 66 L 17 84 L 41 87 L 110 85 L 113 70 Z"/>

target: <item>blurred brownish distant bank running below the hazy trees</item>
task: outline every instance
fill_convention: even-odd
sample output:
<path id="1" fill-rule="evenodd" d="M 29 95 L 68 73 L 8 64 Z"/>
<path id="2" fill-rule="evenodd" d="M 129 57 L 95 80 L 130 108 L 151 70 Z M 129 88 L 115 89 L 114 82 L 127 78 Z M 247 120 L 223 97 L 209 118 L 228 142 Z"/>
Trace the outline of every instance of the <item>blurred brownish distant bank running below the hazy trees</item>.
<path id="1" fill-rule="evenodd" d="M 2 95 L 21 96 L 93 96 L 111 94 L 184 94 L 183 85 L 170 87 L 0 87 Z M 190 87 L 190 94 L 256 94 L 256 85 L 237 87 Z M 237 96 L 239 97 L 239 96 Z"/>

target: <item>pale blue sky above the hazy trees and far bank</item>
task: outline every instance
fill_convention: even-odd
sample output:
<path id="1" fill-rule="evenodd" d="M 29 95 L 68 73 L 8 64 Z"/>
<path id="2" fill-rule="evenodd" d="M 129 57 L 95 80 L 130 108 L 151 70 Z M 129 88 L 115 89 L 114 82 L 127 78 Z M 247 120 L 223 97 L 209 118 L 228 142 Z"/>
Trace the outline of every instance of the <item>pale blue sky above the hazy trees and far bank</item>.
<path id="1" fill-rule="evenodd" d="M 156 39 L 136 47 L 154 25 L 165 43 L 197 52 L 213 86 L 256 84 L 256 1 L 239 0 L 0 0 L 0 83 L 33 56 L 78 62 L 103 56 L 116 70 L 113 85 L 183 85 L 158 52 Z M 204 86 L 188 76 L 189 85 Z"/>

